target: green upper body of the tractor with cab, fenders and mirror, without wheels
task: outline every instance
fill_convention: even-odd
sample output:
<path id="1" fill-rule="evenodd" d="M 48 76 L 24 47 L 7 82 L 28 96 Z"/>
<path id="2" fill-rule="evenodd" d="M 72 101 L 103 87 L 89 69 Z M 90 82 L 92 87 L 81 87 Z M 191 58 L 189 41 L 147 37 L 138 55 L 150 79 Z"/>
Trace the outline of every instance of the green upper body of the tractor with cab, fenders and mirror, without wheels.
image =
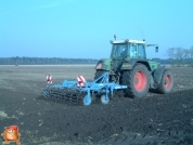
<path id="1" fill-rule="evenodd" d="M 97 70 L 106 70 L 111 74 L 120 72 L 121 70 L 132 69 L 136 63 L 144 64 L 149 70 L 153 70 L 159 66 L 159 63 L 146 58 L 145 49 L 155 47 L 158 52 L 157 44 L 145 44 L 144 40 L 112 40 L 112 52 L 110 58 L 102 58 L 97 64 Z"/>

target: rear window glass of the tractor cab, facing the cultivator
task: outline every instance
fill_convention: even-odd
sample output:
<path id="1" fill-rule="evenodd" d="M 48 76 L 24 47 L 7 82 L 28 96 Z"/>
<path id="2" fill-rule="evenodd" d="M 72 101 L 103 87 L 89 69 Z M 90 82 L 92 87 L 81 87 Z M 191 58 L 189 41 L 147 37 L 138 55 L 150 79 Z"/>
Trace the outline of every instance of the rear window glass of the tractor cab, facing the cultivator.
<path id="1" fill-rule="evenodd" d="M 127 43 L 116 43 L 113 44 L 111 57 L 127 57 L 128 44 Z"/>

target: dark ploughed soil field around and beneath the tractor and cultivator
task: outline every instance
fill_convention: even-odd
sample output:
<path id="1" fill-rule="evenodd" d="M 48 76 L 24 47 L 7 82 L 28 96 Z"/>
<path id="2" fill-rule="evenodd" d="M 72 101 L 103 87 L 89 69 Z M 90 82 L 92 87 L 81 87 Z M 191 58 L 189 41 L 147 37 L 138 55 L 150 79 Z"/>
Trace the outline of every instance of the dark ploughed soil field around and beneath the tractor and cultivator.
<path id="1" fill-rule="evenodd" d="M 193 144 L 193 68 L 171 70 L 171 94 L 115 96 L 108 105 L 86 107 L 43 98 L 41 92 L 48 74 L 53 83 L 76 80 L 78 75 L 92 81 L 92 65 L 0 66 L 0 133 L 18 126 L 22 145 Z"/>

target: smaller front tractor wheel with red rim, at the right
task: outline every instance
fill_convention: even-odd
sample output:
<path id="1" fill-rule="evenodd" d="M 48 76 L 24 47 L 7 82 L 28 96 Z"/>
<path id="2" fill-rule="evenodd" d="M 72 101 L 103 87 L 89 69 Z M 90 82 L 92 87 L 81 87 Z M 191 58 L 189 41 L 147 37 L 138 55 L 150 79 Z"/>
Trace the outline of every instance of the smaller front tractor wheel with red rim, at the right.
<path id="1" fill-rule="evenodd" d="M 173 89 L 173 75 L 169 69 L 164 70 L 157 91 L 163 94 L 170 93 Z"/>

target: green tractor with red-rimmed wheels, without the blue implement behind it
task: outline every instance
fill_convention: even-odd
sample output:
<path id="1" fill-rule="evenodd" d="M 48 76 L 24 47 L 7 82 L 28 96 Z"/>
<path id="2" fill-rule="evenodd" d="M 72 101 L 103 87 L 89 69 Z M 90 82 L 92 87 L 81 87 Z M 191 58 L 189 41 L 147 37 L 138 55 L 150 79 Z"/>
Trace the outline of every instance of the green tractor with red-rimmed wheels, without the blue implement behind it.
<path id="1" fill-rule="evenodd" d="M 145 44 L 144 40 L 116 40 L 114 37 L 111 57 L 98 62 L 94 79 L 108 72 L 111 82 L 128 87 L 124 92 L 130 97 L 143 97 L 150 89 L 164 94 L 172 91 L 172 72 L 158 62 L 146 58 L 145 48 L 155 47 L 155 52 L 158 52 L 157 44 Z"/>

